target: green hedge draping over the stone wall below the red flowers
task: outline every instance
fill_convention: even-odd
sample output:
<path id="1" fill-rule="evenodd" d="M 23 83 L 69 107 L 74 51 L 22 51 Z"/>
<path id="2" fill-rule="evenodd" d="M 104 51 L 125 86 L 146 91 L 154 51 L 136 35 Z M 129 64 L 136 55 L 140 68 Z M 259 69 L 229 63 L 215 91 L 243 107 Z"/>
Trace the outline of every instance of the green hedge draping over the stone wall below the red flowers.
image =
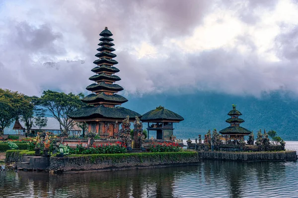
<path id="1" fill-rule="evenodd" d="M 70 158 L 85 158 L 91 163 L 98 163 L 99 161 L 111 160 L 118 163 L 125 159 L 134 159 L 135 161 L 144 162 L 145 160 L 157 161 L 184 161 L 188 159 L 198 158 L 198 152 L 145 152 L 145 153 L 116 153 L 116 154 L 71 154 Z"/>

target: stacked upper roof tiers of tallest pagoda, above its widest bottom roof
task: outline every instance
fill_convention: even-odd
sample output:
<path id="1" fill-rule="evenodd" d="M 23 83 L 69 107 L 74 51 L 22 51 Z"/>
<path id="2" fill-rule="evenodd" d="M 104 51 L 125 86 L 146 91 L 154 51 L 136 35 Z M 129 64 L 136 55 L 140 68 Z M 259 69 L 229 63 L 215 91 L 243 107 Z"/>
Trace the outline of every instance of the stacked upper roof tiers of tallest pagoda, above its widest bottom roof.
<path id="1" fill-rule="evenodd" d="M 121 78 L 115 75 L 120 70 L 114 67 L 118 62 L 113 59 L 117 56 L 115 53 L 112 53 L 112 51 L 115 51 L 112 48 L 114 39 L 110 38 L 113 34 L 105 27 L 99 36 L 101 36 L 98 44 L 100 48 L 97 49 L 99 52 L 95 54 L 98 59 L 93 62 L 97 66 L 91 70 L 95 75 L 89 78 L 94 83 L 86 87 L 86 90 L 91 91 L 92 94 L 86 96 L 82 101 L 94 106 L 115 107 L 115 105 L 127 102 L 128 99 L 116 94 L 122 91 L 123 88 L 115 84 Z"/>

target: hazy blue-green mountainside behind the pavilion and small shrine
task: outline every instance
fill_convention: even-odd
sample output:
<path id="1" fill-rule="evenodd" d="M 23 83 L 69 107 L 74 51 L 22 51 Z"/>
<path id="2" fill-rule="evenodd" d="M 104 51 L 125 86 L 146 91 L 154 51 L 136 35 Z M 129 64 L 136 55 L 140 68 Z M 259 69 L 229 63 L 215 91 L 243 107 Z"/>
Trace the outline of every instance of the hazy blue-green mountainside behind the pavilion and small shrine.
<path id="1" fill-rule="evenodd" d="M 256 133 L 259 129 L 275 130 L 284 140 L 298 140 L 298 98 L 290 92 L 271 92 L 260 98 L 252 96 L 232 96 L 219 93 L 197 92 L 189 95 L 143 96 L 130 98 L 124 107 L 144 114 L 161 105 L 172 110 L 184 121 L 175 124 L 174 134 L 177 138 L 195 138 L 208 130 L 218 131 L 229 126 L 225 122 L 227 113 L 235 103 L 245 122 L 241 126 Z M 144 123 L 147 127 L 147 123 Z"/>

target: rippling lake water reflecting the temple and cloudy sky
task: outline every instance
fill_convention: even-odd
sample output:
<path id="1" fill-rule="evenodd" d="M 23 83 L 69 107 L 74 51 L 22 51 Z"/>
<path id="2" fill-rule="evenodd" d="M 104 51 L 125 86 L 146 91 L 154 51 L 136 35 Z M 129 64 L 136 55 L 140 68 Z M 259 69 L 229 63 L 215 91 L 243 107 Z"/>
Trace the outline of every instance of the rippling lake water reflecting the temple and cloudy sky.
<path id="1" fill-rule="evenodd" d="M 287 142 L 298 150 L 298 142 Z M 49 175 L 4 171 L 6 198 L 298 198 L 298 162 L 203 160 L 191 166 Z"/>

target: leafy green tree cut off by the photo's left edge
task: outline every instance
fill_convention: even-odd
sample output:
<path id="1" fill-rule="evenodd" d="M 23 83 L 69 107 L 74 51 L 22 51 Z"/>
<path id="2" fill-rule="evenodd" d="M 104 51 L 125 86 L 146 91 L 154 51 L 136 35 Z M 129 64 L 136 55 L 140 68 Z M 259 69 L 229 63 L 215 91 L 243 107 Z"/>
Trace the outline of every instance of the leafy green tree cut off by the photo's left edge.
<path id="1" fill-rule="evenodd" d="M 23 94 L 0 89 L 0 136 L 25 111 L 27 104 Z"/>

